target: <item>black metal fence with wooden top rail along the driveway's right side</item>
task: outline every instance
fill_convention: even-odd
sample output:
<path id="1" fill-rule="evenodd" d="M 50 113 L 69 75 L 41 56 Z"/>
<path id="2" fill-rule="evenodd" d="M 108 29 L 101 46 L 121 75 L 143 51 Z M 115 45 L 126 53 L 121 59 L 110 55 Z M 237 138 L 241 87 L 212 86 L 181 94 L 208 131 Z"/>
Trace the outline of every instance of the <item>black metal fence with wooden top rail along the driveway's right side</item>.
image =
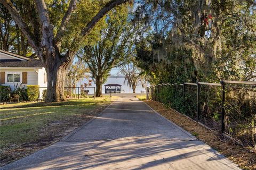
<path id="1" fill-rule="evenodd" d="M 147 98 L 185 114 L 242 145 L 256 145 L 256 82 L 158 84 Z"/>

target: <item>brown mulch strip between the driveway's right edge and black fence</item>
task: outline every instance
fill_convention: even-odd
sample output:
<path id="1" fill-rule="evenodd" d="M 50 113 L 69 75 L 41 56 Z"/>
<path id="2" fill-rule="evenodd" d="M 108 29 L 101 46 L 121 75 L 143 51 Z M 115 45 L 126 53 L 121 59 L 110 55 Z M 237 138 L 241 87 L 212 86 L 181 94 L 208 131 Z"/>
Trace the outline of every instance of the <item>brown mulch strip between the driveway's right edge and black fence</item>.
<path id="1" fill-rule="evenodd" d="M 238 146 L 233 141 L 223 139 L 220 137 L 220 132 L 206 129 L 177 111 L 166 108 L 157 101 L 147 100 L 145 103 L 168 120 L 195 135 L 197 139 L 202 140 L 222 155 L 225 155 L 242 169 L 256 169 L 256 151 L 254 149 Z"/>

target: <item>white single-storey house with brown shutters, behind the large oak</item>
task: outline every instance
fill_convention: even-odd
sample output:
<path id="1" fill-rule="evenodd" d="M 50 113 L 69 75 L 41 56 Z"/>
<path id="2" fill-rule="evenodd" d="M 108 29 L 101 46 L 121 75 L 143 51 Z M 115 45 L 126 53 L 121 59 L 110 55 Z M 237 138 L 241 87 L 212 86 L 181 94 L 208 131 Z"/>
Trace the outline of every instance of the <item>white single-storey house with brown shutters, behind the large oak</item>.
<path id="1" fill-rule="evenodd" d="M 0 50 L 0 85 L 39 85 L 40 98 L 47 87 L 47 76 L 41 61 Z"/>

